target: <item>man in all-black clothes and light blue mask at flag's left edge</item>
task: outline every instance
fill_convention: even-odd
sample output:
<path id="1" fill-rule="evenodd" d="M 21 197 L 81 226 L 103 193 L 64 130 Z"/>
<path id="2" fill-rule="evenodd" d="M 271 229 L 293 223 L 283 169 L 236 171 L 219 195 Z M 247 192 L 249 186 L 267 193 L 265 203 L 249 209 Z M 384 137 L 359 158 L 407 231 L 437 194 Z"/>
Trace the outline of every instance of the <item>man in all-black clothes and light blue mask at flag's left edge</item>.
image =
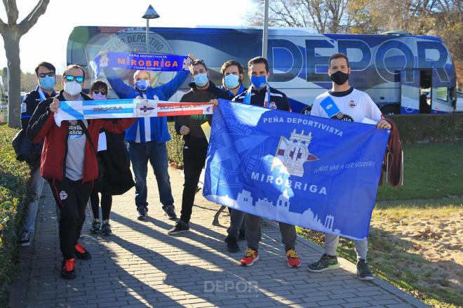
<path id="1" fill-rule="evenodd" d="M 193 82 L 192 88 L 182 96 L 180 102 L 209 102 L 216 98 L 229 99 L 227 93 L 217 88 L 208 79 L 208 69 L 203 60 L 194 60 L 189 65 Z M 192 217 L 194 194 L 198 186 L 201 170 L 206 162 L 208 140 L 204 135 L 201 125 L 206 123 L 210 116 L 206 114 L 194 114 L 191 116 L 175 116 L 175 130 L 183 135 L 183 172 L 185 182 L 182 194 L 182 213 L 177 224 L 168 231 L 169 235 L 175 235 L 189 230 L 189 220 Z"/>

